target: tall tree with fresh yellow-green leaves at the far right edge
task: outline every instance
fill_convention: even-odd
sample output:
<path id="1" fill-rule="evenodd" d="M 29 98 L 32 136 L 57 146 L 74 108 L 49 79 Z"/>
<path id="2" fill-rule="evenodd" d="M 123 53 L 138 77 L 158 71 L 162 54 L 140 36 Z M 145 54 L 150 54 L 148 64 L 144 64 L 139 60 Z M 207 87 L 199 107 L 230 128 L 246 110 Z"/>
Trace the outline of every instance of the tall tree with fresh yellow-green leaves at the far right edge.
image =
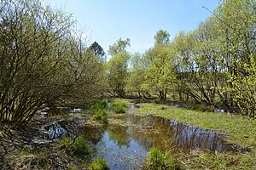
<path id="1" fill-rule="evenodd" d="M 218 35 L 223 43 L 219 63 L 228 77 L 223 94 L 229 94 L 230 107 L 255 116 L 256 3 L 252 0 L 225 0 L 214 15 L 219 20 Z"/>

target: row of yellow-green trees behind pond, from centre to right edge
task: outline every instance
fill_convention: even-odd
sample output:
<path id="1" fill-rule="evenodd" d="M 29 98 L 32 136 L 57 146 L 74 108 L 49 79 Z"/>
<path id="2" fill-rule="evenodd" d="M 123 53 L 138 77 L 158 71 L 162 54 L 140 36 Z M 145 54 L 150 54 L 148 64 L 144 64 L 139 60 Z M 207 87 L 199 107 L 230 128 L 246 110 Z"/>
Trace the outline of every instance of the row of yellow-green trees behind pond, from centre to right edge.
<path id="1" fill-rule="evenodd" d="M 220 1 L 194 31 L 181 31 L 172 41 L 169 37 L 167 31 L 158 31 L 154 47 L 144 54 L 129 54 L 129 39 L 110 46 L 110 92 L 120 97 L 156 94 L 161 100 L 168 97 L 255 117 L 254 0 Z"/>

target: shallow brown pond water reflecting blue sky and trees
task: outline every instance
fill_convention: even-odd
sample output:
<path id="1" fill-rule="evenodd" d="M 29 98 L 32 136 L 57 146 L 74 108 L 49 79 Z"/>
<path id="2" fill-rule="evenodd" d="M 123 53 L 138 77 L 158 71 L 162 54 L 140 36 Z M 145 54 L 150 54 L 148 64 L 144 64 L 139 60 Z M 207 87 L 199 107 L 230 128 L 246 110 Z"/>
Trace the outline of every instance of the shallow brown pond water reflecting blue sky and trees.
<path id="1" fill-rule="evenodd" d="M 131 105 L 128 113 L 110 116 L 107 126 L 90 126 L 89 123 L 79 130 L 96 146 L 92 160 L 104 157 L 110 169 L 139 169 L 153 146 L 183 152 L 247 150 L 225 142 L 226 135 L 216 130 L 189 126 L 160 116 L 136 116 L 132 113 L 134 109 L 137 108 Z M 67 136 L 67 126 L 68 122 L 60 122 L 46 127 L 49 139 Z"/>

